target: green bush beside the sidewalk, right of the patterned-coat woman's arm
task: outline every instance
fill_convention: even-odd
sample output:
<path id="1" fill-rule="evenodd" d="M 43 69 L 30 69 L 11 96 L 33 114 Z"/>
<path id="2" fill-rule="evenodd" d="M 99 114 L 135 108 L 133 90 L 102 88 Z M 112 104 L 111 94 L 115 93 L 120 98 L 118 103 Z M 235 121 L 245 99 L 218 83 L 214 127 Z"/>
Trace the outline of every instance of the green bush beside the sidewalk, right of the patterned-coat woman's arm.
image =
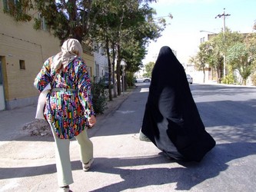
<path id="1" fill-rule="evenodd" d="M 103 114 L 107 105 L 107 94 L 103 79 L 91 83 L 92 103 L 96 114 Z"/>

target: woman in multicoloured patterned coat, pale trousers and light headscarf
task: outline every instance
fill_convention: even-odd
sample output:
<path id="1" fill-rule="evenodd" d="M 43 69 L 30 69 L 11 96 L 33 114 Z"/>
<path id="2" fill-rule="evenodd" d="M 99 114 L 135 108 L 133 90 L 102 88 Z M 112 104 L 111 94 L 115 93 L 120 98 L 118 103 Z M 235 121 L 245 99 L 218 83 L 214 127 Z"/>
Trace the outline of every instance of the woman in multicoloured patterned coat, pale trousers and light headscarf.
<path id="1" fill-rule="evenodd" d="M 53 81 L 44 115 L 55 138 L 60 191 L 69 191 L 68 185 L 73 183 L 69 155 L 72 137 L 78 141 L 83 170 L 87 171 L 93 162 L 93 145 L 86 130 L 95 125 L 96 118 L 91 101 L 91 81 L 81 53 L 79 41 L 69 38 L 63 43 L 61 52 L 45 61 L 34 82 L 41 92 Z"/>

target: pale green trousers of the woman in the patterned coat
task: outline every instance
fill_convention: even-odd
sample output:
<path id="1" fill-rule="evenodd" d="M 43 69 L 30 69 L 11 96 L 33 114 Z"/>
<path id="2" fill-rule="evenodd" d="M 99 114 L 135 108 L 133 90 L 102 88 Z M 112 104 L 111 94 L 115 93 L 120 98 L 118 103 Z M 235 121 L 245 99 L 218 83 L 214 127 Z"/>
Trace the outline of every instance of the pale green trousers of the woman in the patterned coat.
<path id="1" fill-rule="evenodd" d="M 55 133 L 54 127 L 52 127 L 52 134 L 55 138 L 58 187 L 64 187 L 74 183 L 69 154 L 70 141 L 69 139 L 59 139 Z M 91 140 L 88 138 L 87 131 L 82 131 L 75 137 L 75 139 L 78 141 L 81 162 L 86 164 L 93 157 L 93 145 Z"/>

